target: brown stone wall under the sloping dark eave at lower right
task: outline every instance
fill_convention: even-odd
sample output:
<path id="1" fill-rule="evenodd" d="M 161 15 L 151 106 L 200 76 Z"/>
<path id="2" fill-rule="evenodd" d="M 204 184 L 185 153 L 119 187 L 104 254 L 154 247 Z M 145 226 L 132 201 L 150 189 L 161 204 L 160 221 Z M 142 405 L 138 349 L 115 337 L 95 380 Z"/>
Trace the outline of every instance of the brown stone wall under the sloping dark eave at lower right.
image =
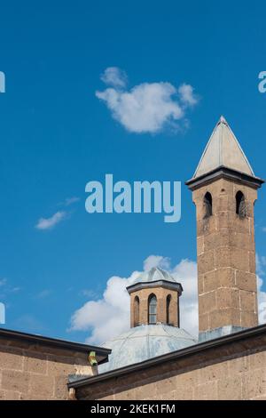
<path id="1" fill-rule="evenodd" d="M 93 382 L 79 399 L 266 400 L 266 336 Z"/>

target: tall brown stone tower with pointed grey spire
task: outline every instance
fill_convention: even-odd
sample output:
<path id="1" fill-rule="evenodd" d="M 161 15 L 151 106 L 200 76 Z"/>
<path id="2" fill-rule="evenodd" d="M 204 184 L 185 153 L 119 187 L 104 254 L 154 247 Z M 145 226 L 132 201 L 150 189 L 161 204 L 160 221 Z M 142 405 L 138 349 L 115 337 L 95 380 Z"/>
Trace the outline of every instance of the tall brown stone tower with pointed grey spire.
<path id="1" fill-rule="evenodd" d="M 254 202 L 263 181 L 221 117 L 192 180 L 200 341 L 258 324 Z"/>

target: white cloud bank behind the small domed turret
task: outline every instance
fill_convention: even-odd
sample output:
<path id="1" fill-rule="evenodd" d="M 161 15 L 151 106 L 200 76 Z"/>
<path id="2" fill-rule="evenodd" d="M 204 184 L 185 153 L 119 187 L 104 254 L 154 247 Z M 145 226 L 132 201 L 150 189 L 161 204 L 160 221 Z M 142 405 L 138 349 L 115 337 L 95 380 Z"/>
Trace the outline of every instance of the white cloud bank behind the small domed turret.
<path id="1" fill-rule="evenodd" d="M 151 255 L 144 261 L 144 269 L 152 267 L 170 268 L 166 257 Z M 181 281 L 184 293 L 181 297 L 182 327 L 194 335 L 198 334 L 197 274 L 194 261 L 183 260 L 172 274 Z M 134 271 L 129 277 L 111 277 L 107 281 L 103 298 L 87 301 L 71 318 L 70 330 L 91 332 L 86 342 L 98 344 L 129 330 L 129 294 L 126 287 L 140 274 Z M 196 289 L 196 290 L 195 290 Z M 185 317 L 185 318 L 184 318 Z"/>

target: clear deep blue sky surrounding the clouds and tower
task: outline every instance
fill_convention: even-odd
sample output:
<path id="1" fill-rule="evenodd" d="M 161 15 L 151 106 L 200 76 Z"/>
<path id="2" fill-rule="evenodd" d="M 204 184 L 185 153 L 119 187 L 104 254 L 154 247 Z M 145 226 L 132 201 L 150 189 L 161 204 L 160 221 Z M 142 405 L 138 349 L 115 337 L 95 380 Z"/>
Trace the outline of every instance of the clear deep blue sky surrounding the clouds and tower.
<path id="1" fill-rule="evenodd" d="M 196 261 L 195 209 L 184 181 L 223 114 L 256 175 L 265 173 L 265 2 L 5 2 L 0 5 L 0 299 L 6 327 L 84 341 L 70 318 L 102 298 L 109 277 L 129 277 L 154 254 Z M 139 84 L 192 85 L 198 103 L 158 132 L 112 117 L 106 68 Z M 179 97 L 179 101 L 180 101 Z M 134 130 L 133 130 L 134 131 Z M 182 181 L 182 219 L 85 212 L 85 185 Z M 76 197 L 76 199 L 73 199 Z M 71 201 L 67 199 L 73 199 Z M 256 250 L 266 256 L 264 206 L 255 207 Z M 63 213 L 51 229 L 40 219 Z M 59 215 L 60 217 L 60 215 Z M 104 319 L 103 319 L 104 320 Z"/>

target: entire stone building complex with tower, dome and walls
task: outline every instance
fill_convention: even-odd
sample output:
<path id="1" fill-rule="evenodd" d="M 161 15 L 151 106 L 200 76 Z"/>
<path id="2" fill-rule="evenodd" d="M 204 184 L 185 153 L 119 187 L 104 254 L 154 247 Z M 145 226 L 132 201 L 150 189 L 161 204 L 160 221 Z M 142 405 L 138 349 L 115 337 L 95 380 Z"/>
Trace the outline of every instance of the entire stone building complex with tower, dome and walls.
<path id="1" fill-rule="evenodd" d="M 254 245 L 262 183 L 221 117 L 186 183 L 196 205 L 199 338 L 180 328 L 182 284 L 154 268 L 127 288 L 129 332 L 101 348 L 0 330 L 0 398 L 266 400 Z"/>

